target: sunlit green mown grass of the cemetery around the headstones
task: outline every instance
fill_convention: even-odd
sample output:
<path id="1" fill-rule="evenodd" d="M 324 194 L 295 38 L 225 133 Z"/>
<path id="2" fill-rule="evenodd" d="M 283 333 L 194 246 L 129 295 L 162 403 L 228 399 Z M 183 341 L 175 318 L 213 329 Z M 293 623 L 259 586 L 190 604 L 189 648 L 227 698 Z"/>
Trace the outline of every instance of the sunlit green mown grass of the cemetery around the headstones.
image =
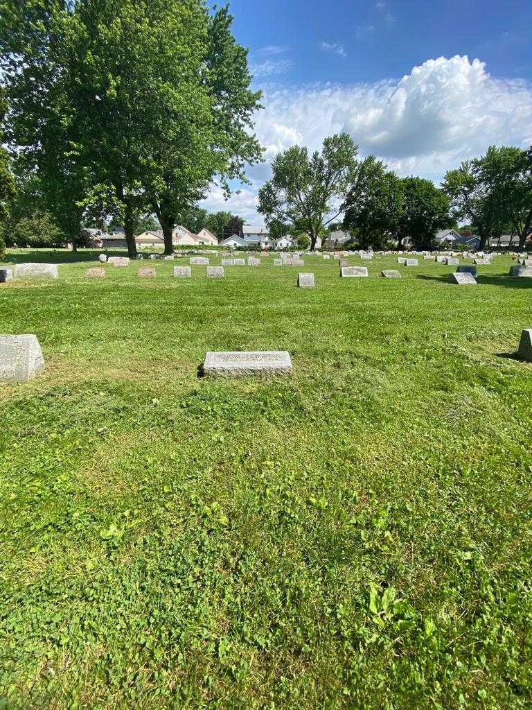
<path id="1" fill-rule="evenodd" d="M 530 708 L 532 279 L 97 253 L 0 284 L 46 362 L 0 386 L 0 707 Z"/>

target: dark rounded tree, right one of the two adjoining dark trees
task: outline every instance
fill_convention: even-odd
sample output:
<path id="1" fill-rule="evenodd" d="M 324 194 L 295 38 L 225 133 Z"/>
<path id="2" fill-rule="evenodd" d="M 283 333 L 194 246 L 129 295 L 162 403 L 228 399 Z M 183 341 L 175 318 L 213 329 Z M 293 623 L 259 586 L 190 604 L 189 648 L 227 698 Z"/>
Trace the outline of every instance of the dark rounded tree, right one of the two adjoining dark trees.
<path id="1" fill-rule="evenodd" d="M 440 229 L 453 224 L 447 195 L 431 180 L 403 178 L 403 203 L 397 225 L 397 246 L 409 237 L 418 249 L 431 249 Z"/>

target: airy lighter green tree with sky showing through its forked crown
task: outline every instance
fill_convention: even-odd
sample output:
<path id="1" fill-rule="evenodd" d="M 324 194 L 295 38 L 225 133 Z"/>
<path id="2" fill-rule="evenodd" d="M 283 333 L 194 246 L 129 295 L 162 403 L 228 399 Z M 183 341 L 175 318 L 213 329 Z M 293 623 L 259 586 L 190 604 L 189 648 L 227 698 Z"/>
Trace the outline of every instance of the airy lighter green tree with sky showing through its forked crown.
<path id="1" fill-rule="evenodd" d="M 346 133 L 323 141 L 321 153 L 292 146 L 272 162 L 272 178 L 259 190 L 258 211 L 268 225 L 304 231 L 316 247 L 318 236 L 343 212 L 353 183 L 358 148 Z"/>

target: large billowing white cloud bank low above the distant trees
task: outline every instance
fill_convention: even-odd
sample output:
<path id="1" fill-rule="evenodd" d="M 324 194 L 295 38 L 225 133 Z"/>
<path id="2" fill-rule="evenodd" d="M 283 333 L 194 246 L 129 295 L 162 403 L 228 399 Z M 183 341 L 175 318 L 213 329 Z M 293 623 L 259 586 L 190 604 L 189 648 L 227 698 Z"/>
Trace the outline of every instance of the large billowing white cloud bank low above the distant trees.
<path id="1" fill-rule="evenodd" d="M 256 133 L 267 162 L 249 168 L 253 186 L 240 195 L 221 203 L 214 196 L 216 209 L 245 210 L 259 224 L 256 190 L 270 176 L 272 158 L 294 144 L 314 151 L 326 136 L 345 131 L 362 155 L 375 153 L 400 175 L 435 182 L 492 144 L 532 144 L 531 84 L 495 79 L 467 57 L 428 60 L 401 80 L 277 89 L 262 104 Z"/>

